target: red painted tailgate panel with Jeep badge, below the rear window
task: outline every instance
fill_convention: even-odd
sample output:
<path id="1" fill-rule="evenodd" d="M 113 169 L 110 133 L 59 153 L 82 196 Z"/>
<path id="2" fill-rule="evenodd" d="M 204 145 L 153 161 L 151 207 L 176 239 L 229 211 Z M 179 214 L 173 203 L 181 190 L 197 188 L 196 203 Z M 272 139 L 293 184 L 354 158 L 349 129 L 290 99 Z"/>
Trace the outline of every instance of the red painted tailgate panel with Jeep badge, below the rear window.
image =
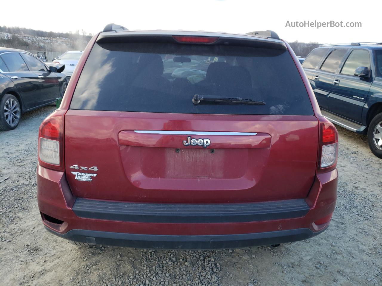
<path id="1" fill-rule="evenodd" d="M 184 146 L 188 136 L 211 143 L 207 148 Z M 317 142 L 314 116 L 69 110 L 66 177 L 75 196 L 94 199 L 208 203 L 304 198 L 316 172 Z M 76 180 L 73 172 L 81 171 L 71 165 L 96 166 L 98 171 L 82 172 L 97 175 L 91 182 Z"/>

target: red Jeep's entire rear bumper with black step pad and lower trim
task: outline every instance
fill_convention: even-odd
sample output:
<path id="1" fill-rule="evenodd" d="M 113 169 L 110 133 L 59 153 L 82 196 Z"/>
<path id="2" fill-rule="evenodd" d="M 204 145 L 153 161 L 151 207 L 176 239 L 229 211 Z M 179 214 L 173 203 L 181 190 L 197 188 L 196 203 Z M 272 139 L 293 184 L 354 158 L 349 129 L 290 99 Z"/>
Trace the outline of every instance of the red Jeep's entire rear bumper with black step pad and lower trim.
<path id="1" fill-rule="evenodd" d="M 243 247 L 298 241 L 325 230 L 335 209 L 337 177 L 337 169 L 317 174 L 305 199 L 223 204 L 228 210 L 219 204 L 179 209 L 76 198 L 63 172 L 38 165 L 37 200 L 45 227 L 74 241 L 170 249 Z M 160 208 L 150 211 L 152 205 Z"/>

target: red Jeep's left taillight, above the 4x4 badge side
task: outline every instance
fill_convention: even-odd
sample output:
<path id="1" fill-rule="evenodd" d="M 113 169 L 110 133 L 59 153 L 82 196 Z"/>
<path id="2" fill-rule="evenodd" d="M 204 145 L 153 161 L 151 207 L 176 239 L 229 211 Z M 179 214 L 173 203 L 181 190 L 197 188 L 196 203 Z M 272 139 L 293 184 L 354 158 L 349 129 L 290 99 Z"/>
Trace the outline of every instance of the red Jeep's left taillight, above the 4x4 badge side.
<path id="1" fill-rule="evenodd" d="M 39 129 L 39 164 L 55 170 L 64 170 L 63 130 L 66 110 L 52 112 Z"/>

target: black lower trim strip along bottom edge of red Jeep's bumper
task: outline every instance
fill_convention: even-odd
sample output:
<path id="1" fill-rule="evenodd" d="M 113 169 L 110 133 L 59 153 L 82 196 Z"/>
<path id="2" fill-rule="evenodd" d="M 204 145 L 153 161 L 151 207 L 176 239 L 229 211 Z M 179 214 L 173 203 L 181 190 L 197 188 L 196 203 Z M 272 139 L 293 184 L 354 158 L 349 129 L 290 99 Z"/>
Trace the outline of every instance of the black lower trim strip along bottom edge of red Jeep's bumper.
<path id="1" fill-rule="evenodd" d="M 65 234 L 61 234 L 47 228 L 47 230 L 57 236 L 83 243 L 145 249 L 185 250 L 227 249 L 287 243 L 312 238 L 325 229 L 319 232 L 313 232 L 309 228 L 298 228 L 294 230 L 233 235 L 142 235 L 79 229 L 70 230 Z"/>

